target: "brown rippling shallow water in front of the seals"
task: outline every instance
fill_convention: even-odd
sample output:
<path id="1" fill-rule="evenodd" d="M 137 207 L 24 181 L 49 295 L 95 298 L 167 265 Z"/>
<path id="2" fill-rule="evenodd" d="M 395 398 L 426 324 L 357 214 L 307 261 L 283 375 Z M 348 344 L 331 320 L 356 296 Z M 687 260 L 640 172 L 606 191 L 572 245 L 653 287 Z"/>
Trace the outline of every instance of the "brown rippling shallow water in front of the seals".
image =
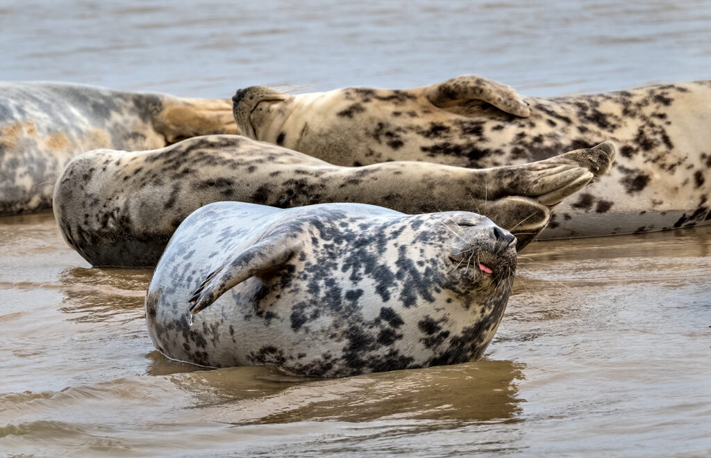
<path id="1" fill-rule="evenodd" d="M 0 449 L 166 455 L 711 452 L 711 227 L 538 242 L 486 358 L 337 380 L 154 350 L 149 270 L 0 219 Z"/>

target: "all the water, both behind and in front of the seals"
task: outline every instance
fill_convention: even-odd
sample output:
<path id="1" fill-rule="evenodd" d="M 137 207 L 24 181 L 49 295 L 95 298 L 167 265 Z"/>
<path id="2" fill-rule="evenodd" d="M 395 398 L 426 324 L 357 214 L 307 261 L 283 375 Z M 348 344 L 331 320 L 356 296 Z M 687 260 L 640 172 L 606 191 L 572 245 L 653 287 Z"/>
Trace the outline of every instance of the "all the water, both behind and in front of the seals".
<path id="1" fill-rule="evenodd" d="M 525 95 L 709 79 L 706 1 L 0 0 L 0 79 L 229 97 L 479 73 Z M 602 140 L 602 139 L 601 139 Z M 711 227 L 535 243 L 486 358 L 338 380 L 154 351 L 146 270 L 0 218 L 0 454 L 711 453 Z"/>

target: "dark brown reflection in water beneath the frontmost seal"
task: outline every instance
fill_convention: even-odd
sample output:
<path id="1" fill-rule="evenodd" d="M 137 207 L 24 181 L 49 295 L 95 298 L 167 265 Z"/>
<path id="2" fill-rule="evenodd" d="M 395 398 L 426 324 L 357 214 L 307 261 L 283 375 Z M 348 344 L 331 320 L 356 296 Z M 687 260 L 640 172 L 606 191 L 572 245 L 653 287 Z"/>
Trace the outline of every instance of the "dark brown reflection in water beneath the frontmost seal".
<path id="1" fill-rule="evenodd" d="M 271 368 L 225 368 L 174 376 L 198 399 L 205 420 L 248 423 L 374 420 L 515 420 L 524 366 L 478 361 L 457 366 L 302 380 Z M 198 407 L 199 406 L 199 407 Z M 210 407 L 206 407 L 210 406 Z"/>

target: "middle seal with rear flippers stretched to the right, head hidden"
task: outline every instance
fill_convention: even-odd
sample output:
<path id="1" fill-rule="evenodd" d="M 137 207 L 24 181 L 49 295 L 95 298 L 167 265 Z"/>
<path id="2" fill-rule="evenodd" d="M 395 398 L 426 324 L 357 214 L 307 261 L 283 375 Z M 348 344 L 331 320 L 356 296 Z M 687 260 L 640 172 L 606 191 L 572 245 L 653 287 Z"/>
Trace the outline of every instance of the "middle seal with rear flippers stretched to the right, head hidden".
<path id="1" fill-rule="evenodd" d="M 54 212 L 65 240 L 95 266 L 152 267 L 178 225 L 216 201 L 280 208 L 359 202 L 406 213 L 479 211 L 533 240 L 563 198 L 604 174 L 614 145 L 495 169 L 388 162 L 339 167 L 235 135 L 154 151 L 100 149 L 68 164 Z"/>

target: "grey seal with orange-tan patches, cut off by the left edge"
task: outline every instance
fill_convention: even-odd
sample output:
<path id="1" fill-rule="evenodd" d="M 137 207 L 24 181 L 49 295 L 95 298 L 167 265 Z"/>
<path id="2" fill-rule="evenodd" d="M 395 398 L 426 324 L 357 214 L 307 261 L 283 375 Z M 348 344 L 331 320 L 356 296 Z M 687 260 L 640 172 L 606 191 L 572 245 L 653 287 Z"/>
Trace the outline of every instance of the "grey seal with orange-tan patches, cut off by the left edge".
<path id="1" fill-rule="evenodd" d="M 238 133 L 228 100 L 0 82 L 0 215 L 49 208 L 64 166 L 85 151 L 154 149 L 222 133 Z"/>

